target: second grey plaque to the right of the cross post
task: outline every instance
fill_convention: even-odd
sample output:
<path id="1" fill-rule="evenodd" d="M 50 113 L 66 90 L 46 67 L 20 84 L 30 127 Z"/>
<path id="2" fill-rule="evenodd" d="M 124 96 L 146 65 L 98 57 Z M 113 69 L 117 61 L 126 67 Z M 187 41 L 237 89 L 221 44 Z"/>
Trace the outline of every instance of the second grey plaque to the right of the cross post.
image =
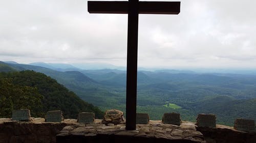
<path id="1" fill-rule="evenodd" d="M 180 126 L 181 120 L 180 120 L 180 113 L 164 113 L 162 118 L 163 124 L 174 124 Z"/>

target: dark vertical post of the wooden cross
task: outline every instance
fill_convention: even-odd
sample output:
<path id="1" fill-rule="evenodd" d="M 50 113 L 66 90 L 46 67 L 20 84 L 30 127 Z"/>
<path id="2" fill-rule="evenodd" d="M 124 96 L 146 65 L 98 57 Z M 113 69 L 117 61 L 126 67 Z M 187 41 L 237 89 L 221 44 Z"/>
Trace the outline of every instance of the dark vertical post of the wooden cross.
<path id="1" fill-rule="evenodd" d="M 126 69 L 126 130 L 136 129 L 139 0 L 129 0 Z"/>

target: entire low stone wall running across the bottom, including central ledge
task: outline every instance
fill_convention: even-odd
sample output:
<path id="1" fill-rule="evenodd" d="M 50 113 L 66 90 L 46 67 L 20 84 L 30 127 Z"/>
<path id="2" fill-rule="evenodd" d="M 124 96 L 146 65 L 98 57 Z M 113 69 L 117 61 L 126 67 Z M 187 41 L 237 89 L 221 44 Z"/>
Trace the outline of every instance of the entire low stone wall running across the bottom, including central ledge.
<path id="1" fill-rule="evenodd" d="M 150 121 L 137 125 L 137 132 L 125 131 L 124 124 L 79 124 L 74 119 L 61 123 L 47 123 L 44 119 L 32 122 L 16 122 L 0 119 L 0 143 L 50 143 L 50 142 L 208 142 L 252 143 L 255 132 L 237 131 L 232 127 L 217 125 L 216 128 L 197 127 L 195 123 L 182 122 L 180 126 Z M 57 139 L 56 139 L 57 135 Z"/>

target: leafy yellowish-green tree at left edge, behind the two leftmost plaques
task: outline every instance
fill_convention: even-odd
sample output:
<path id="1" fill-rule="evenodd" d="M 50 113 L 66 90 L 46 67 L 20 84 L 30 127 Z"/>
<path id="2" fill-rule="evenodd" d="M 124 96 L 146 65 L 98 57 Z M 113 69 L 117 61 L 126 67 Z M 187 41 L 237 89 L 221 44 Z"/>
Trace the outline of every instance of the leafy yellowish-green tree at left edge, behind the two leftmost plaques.
<path id="1" fill-rule="evenodd" d="M 30 109 L 31 116 L 42 117 L 43 96 L 37 88 L 13 84 L 12 78 L 0 78 L 0 118 L 10 118 L 14 109 Z"/>

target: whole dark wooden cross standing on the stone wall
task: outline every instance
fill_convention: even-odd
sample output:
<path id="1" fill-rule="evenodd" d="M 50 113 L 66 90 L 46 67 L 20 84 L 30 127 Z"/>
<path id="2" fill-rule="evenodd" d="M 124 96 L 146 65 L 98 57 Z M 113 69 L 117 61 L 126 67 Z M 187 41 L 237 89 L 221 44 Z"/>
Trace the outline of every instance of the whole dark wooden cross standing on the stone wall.
<path id="1" fill-rule="evenodd" d="M 128 14 L 125 129 L 135 130 L 139 14 L 179 14 L 180 2 L 88 1 L 88 12 Z"/>

